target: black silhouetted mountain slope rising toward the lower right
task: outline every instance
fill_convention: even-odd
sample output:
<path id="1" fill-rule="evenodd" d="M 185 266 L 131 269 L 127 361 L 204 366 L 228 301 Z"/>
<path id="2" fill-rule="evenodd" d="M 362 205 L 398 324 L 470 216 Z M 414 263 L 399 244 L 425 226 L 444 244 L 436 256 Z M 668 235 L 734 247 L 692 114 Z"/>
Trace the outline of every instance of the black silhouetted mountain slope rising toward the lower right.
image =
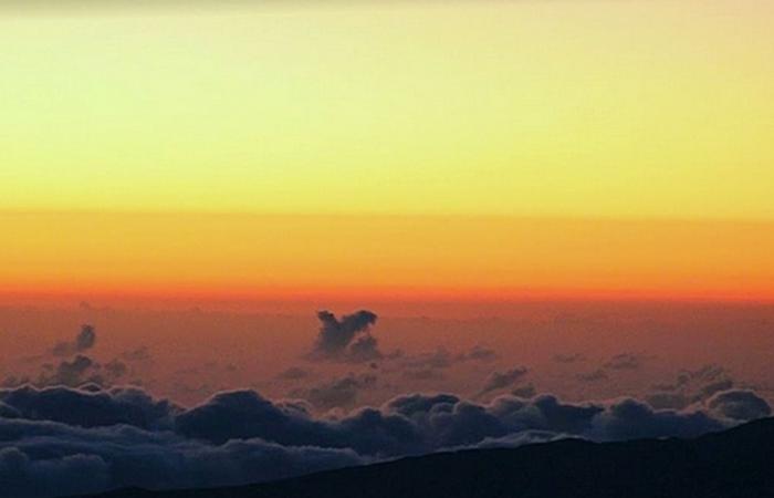
<path id="1" fill-rule="evenodd" d="M 252 486 L 100 498 L 774 497 L 774 418 L 698 439 L 436 454 Z M 94 498 L 94 497 L 92 497 Z"/>

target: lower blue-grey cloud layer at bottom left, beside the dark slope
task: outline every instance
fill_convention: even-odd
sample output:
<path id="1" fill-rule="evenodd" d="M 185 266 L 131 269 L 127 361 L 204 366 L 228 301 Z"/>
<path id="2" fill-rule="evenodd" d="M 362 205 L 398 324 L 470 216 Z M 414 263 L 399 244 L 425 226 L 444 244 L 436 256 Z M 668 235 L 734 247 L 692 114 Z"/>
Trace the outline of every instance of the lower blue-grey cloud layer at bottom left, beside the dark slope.
<path id="1" fill-rule="evenodd" d="M 14 498 L 124 486 L 239 485 L 367 461 L 351 449 L 284 446 L 261 439 L 212 445 L 172 432 L 129 426 L 83 429 L 0 419 L 0 432 L 10 434 L 0 450 L 0 483 L 4 496 Z"/>

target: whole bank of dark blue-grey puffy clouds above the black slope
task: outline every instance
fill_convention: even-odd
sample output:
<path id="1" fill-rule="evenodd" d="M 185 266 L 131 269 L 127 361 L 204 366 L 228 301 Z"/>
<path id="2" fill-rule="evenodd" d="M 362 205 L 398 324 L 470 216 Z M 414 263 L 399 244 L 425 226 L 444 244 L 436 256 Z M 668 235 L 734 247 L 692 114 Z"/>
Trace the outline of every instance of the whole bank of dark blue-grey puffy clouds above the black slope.
<path id="1" fill-rule="evenodd" d="M 740 390 L 686 411 L 630 397 L 567 403 L 508 394 L 477 403 L 409 394 L 332 417 L 254 391 L 186 408 L 134 387 L 23 386 L 0 390 L 0 483 L 14 498 L 237 485 L 452 448 L 692 437 L 770 414 L 763 398 Z"/>

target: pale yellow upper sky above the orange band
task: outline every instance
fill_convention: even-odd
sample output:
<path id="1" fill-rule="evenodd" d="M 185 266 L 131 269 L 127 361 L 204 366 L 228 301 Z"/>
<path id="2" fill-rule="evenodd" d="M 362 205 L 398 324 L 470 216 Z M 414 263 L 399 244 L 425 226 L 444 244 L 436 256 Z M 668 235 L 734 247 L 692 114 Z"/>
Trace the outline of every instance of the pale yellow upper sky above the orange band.
<path id="1" fill-rule="evenodd" d="M 730 0 L 7 11 L 0 209 L 771 219 L 772 25 Z"/>

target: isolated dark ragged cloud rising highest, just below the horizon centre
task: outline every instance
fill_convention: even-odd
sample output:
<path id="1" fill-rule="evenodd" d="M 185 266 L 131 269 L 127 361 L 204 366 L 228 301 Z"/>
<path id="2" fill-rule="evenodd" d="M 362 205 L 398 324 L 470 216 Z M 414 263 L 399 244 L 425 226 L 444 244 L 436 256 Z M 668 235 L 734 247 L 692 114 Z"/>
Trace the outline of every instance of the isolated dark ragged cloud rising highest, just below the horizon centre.
<path id="1" fill-rule="evenodd" d="M 330 311 L 317 312 L 321 322 L 312 359 L 367 362 L 383 357 L 370 328 L 377 315 L 368 310 L 345 314 L 339 319 Z"/>

